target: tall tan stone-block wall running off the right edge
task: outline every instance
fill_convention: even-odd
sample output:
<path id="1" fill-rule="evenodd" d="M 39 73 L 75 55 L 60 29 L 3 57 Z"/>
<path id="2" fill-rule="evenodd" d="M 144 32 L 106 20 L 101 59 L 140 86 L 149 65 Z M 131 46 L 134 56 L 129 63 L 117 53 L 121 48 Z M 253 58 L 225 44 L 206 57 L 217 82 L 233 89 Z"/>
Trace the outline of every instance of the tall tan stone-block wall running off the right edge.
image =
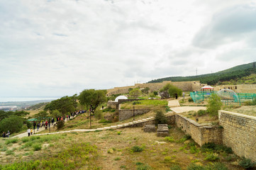
<path id="1" fill-rule="evenodd" d="M 223 126 L 223 144 L 239 157 L 256 162 L 256 117 L 219 111 L 218 120 Z"/>

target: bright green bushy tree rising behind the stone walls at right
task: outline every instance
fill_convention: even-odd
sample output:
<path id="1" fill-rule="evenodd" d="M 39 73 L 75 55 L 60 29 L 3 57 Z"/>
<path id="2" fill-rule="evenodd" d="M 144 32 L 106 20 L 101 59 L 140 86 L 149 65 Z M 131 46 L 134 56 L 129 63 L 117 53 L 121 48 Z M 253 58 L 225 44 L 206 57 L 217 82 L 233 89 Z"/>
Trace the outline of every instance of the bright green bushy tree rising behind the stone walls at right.
<path id="1" fill-rule="evenodd" d="M 221 98 L 217 94 L 211 94 L 208 100 L 207 112 L 212 116 L 217 116 L 218 111 L 221 110 L 221 106 Z"/>

